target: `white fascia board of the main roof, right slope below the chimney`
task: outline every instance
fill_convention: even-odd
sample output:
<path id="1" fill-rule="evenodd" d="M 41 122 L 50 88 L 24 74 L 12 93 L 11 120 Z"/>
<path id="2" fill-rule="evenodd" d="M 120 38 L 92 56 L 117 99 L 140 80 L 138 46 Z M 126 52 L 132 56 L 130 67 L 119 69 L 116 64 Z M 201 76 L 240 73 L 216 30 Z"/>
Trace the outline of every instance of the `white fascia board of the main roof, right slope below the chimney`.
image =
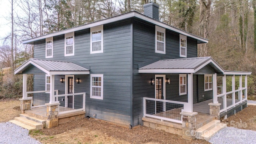
<path id="1" fill-rule="evenodd" d="M 153 24 L 156 24 L 156 25 L 158 25 L 158 26 L 162 26 L 163 28 L 167 28 L 167 29 L 172 30 L 172 31 L 174 31 L 174 32 L 178 32 L 178 33 L 180 33 L 180 34 L 182 34 L 182 35 L 189 36 L 189 37 L 194 38 L 194 39 L 196 39 L 196 40 L 201 40 L 202 42 L 208 43 L 208 40 L 206 40 L 206 39 L 204 39 L 204 38 L 200 38 L 200 37 L 195 36 L 195 35 L 193 35 L 193 34 L 189 34 L 189 33 L 187 33 L 187 32 L 184 32 L 184 31 L 182 31 L 182 30 L 179 30 L 179 29 L 177 29 L 177 28 L 174 28 L 174 27 L 172 27 L 172 26 L 169 26 L 168 24 L 164 24 L 164 23 L 159 22 L 159 21 L 157 21 L 157 20 L 148 18 L 148 17 L 146 17 L 146 16 L 144 16 L 144 15 L 142 15 L 142 14 L 135 13 L 134 15 L 135 15 L 135 17 L 137 17 L 137 18 L 140 18 L 140 19 L 142 19 L 142 20 L 146 20 L 146 21 L 151 22 L 151 23 L 153 23 Z"/>

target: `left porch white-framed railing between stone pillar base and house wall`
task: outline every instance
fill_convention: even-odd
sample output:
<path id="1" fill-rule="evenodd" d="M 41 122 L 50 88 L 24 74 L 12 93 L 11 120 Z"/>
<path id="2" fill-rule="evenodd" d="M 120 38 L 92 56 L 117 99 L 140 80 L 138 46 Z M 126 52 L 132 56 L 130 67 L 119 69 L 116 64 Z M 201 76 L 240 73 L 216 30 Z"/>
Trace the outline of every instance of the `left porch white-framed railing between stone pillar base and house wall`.
<path id="1" fill-rule="evenodd" d="M 59 113 L 65 114 L 69 112 L 85 111 L 85 92 L 76 94 L 60 94 L 54 96 L 56 101 L 60 102 Z"/>

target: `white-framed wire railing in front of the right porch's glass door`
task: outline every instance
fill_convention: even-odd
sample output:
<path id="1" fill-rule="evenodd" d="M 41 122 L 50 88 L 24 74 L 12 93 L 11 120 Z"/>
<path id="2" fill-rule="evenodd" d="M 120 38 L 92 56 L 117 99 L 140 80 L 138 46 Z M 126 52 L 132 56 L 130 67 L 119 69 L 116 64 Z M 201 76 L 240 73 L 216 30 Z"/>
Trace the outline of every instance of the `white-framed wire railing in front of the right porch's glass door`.
<path id="1" fill-rule="evenodd" d="M 143 116 L 182 123 L 180 112 L 188 102 L 143 98 Z"/>

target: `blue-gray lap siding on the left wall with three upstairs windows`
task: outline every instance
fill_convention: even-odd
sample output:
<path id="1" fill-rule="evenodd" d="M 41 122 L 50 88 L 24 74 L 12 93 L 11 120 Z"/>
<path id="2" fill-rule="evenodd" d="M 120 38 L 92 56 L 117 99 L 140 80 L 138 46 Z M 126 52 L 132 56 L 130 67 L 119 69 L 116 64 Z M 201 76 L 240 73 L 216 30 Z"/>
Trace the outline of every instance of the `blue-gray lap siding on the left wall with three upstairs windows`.
<path id="1" fill-rule="evenodd" d="M 75 32 L 75 55 L 64 57 L 64 35 L 54 37 L 53 58 L 49 59 L 72 59 L 90 66 L 90 74 L 104 75 L 103 100 L 90 98 L 90 75 L 75 75 L 81 81 L 75 84 L 75 92 L 86 92 L 86 115 L 96 114 L 98 119 L 130 124 L 131 38 L 130 20 L 106 24 L 104 52 L 90 54 L 90 29 L 81 30 Z M 35 44 L 34 58 L 45 58 L 45 40 Z M 65 88 L 59 78 L 55 86 Z"/>

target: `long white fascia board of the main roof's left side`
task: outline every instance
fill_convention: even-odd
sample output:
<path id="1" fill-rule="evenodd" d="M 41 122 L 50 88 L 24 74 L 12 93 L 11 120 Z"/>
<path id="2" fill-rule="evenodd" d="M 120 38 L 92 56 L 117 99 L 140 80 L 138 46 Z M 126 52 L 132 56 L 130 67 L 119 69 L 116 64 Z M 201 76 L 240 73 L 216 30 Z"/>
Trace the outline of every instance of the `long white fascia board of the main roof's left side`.
<path id="1" fill-rule="evenodd" d="M 135 12 L 127 13 L 127 14 L 124 14 L 124 15 L 121 15 L 121 16 L 116 16 L 116 17 L 113 17 L 113 18 L 108 18 L 108 19 L 105 19 L 105 20 L 100 20 L 98 22 L 93 22 L 93 23 L 90 23 L 90 24 L 85 24 L 85 25 L 82 25 L 82 26 L 77 26 L 75 28 L 70 28 L 70 29 L 67 29 L 67 30 L 62 30 L 62 31 L 59 31 L 59 32 L 54 32 L 52 34 L 46 34 L 44 36 L 39 36 L 39 37 L 36 37 L 36 38 L 31 38 L 31 39 L 28 39 L 28 40 L 24 40 L 24 41 L 22 41 L 22 43 L 26 44 L 28 42 L 33 42 L 33 41 L 36 41 L 36 40 L 42 40 L 44 38 L 48 38 L 48 37 L 52 37 L 52 36 L 58 36 L 58 35 L 66 34 L 66 33 L 69 33 L 69 32 L 75 32 L 75 31 L 78 31 L 78 30 L 84 30 L 86 28 L 91 28 L 91 27 L 94 27 L 94 26 L 99 26 L 99 25 L 115 22 L 115 21 L 118 21 L 118 20 L 123 20 L 123 19 L 126 19 L 126 18 L 131 18 L 131 17 L 134 17 L 134 14 L 135 14 Z"/>

